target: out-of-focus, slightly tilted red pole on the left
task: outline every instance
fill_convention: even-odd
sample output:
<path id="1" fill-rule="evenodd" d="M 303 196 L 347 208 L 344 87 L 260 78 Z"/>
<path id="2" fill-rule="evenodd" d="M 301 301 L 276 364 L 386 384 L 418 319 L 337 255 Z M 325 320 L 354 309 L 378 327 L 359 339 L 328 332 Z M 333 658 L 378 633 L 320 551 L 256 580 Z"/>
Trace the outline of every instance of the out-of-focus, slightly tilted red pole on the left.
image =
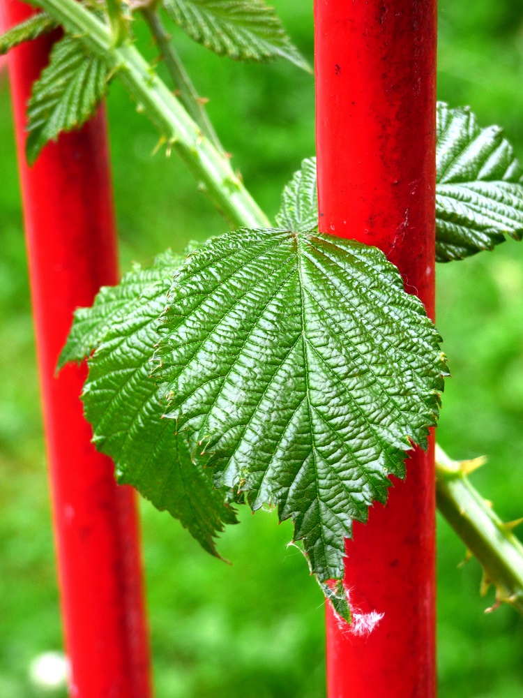
<path id="1" fill-rule="evenodd" d="M 7 26 L 31 10 L 3 0 Z M 26 102 L 52 38 L 10 53 L 10 75 L 58 548 L 70 693 L 149 698 L 149 655 L 135 496 L 90 443 L 79 394 L 85 366 L 54 375 L 77 306 L 118 279 L 105 114 L 24 158 Z"/>

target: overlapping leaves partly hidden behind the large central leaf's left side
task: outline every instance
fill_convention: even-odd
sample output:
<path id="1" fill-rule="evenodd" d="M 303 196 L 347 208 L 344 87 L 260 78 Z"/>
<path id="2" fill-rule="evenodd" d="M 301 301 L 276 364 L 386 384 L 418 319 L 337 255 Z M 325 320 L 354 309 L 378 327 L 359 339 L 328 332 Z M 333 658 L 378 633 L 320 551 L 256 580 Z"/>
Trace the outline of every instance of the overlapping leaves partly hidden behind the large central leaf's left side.
<path id="1" fill-rule="evenodd" d="M 136 267 L 114 288 L 103 288 L 91 309 L 75 313 L 60 364 L 94 351 L 82 399 L 93 441 L 112 456 L 121 484 L 132 484 L 160 510 L 180 519 L 211 554 L 225 523 L 235 523 L 211 472 L 191 459 L 187 440 L 162 419 L 151 378 L 156 326 L 174 271 L 185 256 L 166 253 L 152 269 Z"/>

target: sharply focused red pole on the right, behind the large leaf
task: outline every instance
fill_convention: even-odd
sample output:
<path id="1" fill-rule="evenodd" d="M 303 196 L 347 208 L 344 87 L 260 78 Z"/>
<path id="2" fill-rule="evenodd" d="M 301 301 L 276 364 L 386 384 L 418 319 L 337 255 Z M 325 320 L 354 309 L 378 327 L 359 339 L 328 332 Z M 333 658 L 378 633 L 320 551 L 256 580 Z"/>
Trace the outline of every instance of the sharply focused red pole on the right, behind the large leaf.
<path id="1" fill-rule="evenodd" d="M 316 0 L 319 223 L 376 245 L 434 315 L 436 0 Z M 347 541 L 370 634 L 327 618 L 329 698 L 434 698 L 434 455 Z"/>

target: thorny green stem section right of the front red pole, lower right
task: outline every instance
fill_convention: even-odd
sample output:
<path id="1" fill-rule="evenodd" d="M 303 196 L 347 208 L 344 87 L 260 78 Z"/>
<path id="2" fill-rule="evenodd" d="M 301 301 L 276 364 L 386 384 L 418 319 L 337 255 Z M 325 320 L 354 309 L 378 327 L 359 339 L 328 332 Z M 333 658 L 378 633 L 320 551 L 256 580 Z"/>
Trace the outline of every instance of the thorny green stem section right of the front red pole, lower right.
<path id="1" fill-rule="evenodd" d="M 496 587 L 497 604 L 508 602 L 523 614 L 523 545 L 471 485 L 467 462 L 436 451 L 437 503 L 455 533 L 485 572 L 483 589 Z"/>

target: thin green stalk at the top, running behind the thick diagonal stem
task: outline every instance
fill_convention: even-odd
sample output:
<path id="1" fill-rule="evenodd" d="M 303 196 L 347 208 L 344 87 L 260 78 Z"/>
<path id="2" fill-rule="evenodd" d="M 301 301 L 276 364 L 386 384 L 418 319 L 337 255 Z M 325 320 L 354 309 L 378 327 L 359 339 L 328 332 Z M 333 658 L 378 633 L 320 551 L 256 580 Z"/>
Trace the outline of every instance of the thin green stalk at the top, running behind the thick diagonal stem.
<path id="1" fill-rule="evenodd" d="M 183 106 L 202 129 L 202 133 L 204 133 L 206 138 L 209 138 L 216 149 L 223 151 L 222 144 L 220 143 L 218 135 L 216 135 L 213 124 L 211 124 L 211 119 L 209 119 L 207 115 L 205 107 L 181 62 L 178 52 L 172 45 L 171 37 L 167 34 L 162 24 L 158 10 L 144 7 L 142 9 L 142 15 L 144 15 L 144 19 L 147 24 L 149 24 L 151 34 L 153 34 L 158 44 L 165 67 L 169 71 L 174 86 L 180 91 L 180 98 Z"/>

